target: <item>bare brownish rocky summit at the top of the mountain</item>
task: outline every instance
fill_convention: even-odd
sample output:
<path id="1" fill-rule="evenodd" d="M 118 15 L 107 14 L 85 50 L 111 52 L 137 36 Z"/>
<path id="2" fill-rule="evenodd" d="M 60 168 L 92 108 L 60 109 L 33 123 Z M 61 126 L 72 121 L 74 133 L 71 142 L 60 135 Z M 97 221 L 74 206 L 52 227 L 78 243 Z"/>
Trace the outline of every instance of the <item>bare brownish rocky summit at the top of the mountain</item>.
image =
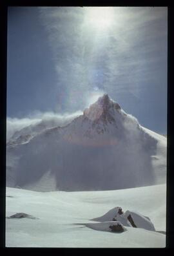
<path id="1" fill-rule="evenodd" d="M 103 94 L 95 103 L 84 110 L 84 116 L 92 121 L 99 120 L 99 118 L 106 120 L 107 116 L 111 116 L 111 112 L 119 109 L 121 107 L 118 103 L 111 100 L 108 94 Z"/>

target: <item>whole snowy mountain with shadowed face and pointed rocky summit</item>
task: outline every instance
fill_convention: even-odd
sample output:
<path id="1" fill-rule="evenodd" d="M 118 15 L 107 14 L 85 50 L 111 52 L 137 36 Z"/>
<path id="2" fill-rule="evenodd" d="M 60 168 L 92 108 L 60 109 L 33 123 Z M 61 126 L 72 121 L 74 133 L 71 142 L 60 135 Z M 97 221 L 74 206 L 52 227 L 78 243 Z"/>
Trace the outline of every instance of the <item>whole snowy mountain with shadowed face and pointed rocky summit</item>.
<path id="1" fill-rule="evenodd" d="M 7 145 L 10 187 L 88 191 L 166 182 L 166 138 L 141 127 L 107 94 L 68 125 L 24 136 Z"/>

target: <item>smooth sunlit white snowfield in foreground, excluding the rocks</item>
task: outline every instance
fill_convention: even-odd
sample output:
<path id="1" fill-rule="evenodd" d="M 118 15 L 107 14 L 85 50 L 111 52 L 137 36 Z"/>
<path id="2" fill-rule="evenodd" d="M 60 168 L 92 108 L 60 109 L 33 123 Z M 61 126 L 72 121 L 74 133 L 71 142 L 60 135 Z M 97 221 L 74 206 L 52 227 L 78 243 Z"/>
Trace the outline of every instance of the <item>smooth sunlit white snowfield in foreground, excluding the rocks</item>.
<path id="1" fill-rule="evenodd" d="M 126 226 L 126 231 L 113 233 L 107 231 L 106 224 L 91 220 L 116 206 L 150 217 L 156 232 Z M 166 235 L 158 232 L 166 231 L 166 185 L 88 192 L 35 192 L 7 187 L 6 217 L 21 212 L 39 219 L 6 219 L 7 247 L 166 246 Z"/>

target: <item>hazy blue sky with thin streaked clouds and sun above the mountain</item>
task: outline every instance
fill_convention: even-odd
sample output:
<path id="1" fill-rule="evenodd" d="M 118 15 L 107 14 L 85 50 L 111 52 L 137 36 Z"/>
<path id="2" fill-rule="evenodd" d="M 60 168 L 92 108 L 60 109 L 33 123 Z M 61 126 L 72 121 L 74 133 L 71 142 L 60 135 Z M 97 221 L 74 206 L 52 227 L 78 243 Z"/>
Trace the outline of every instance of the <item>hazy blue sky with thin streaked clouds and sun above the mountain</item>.
<path id="1" fill-rule="evenodd" d="M 104 93 L 166 134 L 167 7 L 10 7 L 7 117 L 83 111 Z"/>

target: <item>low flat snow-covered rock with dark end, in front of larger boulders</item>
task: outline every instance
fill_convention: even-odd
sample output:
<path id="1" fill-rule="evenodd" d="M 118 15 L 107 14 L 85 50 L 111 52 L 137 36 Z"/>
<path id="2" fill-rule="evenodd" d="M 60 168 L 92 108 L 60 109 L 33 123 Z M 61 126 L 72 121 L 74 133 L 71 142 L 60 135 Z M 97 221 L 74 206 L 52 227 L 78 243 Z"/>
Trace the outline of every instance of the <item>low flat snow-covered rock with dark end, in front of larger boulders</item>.
<path id="1" fill-rule="evenodd" d="M 119 221 L 84 223 L 84 226 L 99 231 L 112 231 L 117 233 L 127 230 Z"/>

